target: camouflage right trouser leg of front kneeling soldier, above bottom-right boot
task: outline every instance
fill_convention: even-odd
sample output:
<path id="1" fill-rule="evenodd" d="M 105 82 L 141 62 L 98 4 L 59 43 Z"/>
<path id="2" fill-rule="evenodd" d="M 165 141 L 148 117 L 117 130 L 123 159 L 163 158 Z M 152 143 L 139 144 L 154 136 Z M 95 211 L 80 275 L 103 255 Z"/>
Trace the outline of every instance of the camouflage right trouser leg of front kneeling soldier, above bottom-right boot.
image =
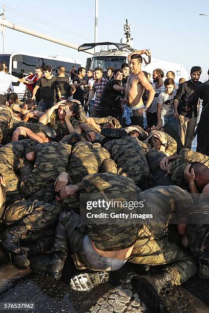
<path id="1" fill-rule="evenodd" d="M 184 283 L 197 273 L 195 259 L 177 244 L 170 242 L 167 237 L 163 237 L 163 230 L 162 238 L 149 238 L 149 235 L 145 237 L 143 228 L 140 230 L 139 237 L 142 234 L 143 238 L 138 239 L 134 245 L 130 262 L 149 265 L 166 264 L 164 270 L 170 272 L 174 285 Z"/>

